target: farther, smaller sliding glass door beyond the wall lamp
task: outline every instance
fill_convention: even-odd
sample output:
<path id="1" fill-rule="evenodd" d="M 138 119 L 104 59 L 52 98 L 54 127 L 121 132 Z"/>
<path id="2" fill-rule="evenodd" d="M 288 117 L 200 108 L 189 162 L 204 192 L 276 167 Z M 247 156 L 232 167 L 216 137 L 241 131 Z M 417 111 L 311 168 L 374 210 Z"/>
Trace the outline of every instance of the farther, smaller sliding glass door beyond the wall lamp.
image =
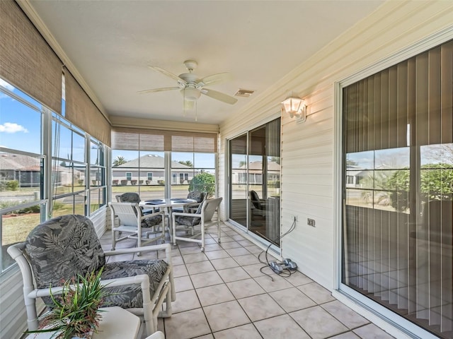
<path id="1" fill-rule="evenodd" d="M 231 220 L 279 245 L 280 118 L 229 141 Z"/>

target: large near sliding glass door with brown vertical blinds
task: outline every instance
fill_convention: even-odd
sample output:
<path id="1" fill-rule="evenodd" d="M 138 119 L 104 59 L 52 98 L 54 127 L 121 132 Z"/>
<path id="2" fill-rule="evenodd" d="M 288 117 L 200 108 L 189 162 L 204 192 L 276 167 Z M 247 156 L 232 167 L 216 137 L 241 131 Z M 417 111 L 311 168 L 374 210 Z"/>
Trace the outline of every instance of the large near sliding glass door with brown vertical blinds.
<path id="1" fill-rule="evenodd" d="M 453 338 L 453 42 L 343 88 L 342 283 Z"/>

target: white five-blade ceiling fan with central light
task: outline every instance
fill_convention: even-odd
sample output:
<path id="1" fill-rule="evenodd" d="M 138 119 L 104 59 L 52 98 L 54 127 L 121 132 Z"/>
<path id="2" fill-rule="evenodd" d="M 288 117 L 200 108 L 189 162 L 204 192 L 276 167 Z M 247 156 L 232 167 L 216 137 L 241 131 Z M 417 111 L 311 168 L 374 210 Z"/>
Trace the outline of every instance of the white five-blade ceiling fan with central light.
<path id="1" fill-rule="evenodd" d="M 234 105 L 238 101 L 235 97 L 231 97 L 230 95 L 217 92 L 217 90 L 210 90 L 209 88 L 205 88 L 206 85 L 212 85 L 213 83 L 219 83 L 227 80 L 229 78 L 228 72 L 212 74 L 210 76 L 200 78 L 195 73 L 192 73 L 198 65 L 197 61 L 186 60 L 183 64 L 189 73 L 182 73 L 179 76 L 176 76 L 176 74 L 166 71 L 165 69 L 161 69 L 158 66 L 148 66 L 150 69 L 161 72 L 166 76 L 176 80 L 178 86 L 141 90 L 138 93 L 154 93 L 162 92 L 164 90 L 180 90 L 180 93 L 184 97 L 185 109 L 192 109 L 195 101 L 197 101 L 197 99 L 202 94 L 230 105 Z"/>

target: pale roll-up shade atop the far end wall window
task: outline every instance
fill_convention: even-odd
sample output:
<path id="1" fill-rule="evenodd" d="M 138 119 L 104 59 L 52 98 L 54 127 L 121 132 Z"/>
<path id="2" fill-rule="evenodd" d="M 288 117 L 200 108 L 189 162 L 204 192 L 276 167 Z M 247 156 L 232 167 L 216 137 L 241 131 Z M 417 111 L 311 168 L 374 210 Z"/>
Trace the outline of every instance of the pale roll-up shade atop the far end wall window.
<path id="1" fill-rule="evenodd" d="M 114 127 L 112 148 L 215 153 L 217 152 L 217 134 Z"/>

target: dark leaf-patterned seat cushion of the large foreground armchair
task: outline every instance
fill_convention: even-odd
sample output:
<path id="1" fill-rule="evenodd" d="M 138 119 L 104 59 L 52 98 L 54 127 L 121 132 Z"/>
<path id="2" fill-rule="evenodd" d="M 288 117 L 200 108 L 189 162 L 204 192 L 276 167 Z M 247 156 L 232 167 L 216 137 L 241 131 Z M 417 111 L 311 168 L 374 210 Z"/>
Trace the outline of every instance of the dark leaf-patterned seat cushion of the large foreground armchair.
<path id="1" fill-rule="evenodd" d="M 116 261 L 113 263 L 107 263 L 104 266 L 102 279 L 105 280 L 147 274 L 150 282 L 149 290 L 152 296 L 154 295 L 154 291 L 159 285 L 159 282 L 161 281 L 167 268 L 168 264 L 160 259 Z M 105 292 L 108 296 L 103 300 L 104 307 L 119 306 L 126 309 L 143 307 L 142 289 L 139 284 L 106 287 Z"/>

